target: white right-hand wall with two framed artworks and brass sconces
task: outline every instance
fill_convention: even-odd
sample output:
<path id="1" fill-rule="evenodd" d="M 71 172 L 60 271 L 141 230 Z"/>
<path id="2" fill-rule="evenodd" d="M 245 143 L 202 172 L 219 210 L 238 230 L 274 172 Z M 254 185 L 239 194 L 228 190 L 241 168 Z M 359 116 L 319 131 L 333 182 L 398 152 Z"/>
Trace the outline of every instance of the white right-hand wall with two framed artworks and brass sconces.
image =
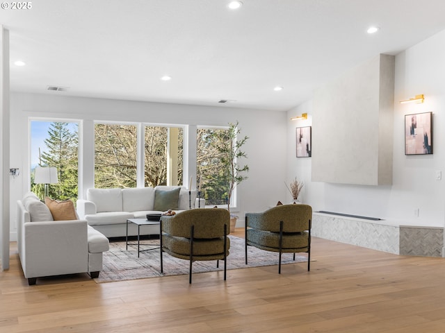
<path id="1" fill-rule="evenodd" d="M 444 226 L 445 179 L 445 31 L 412 46 L 396 56 L 394 94 L 393 184 L 388 186 L 336 185 L 311 182 L 311 159 L 295 157 L 295 128 L 312 125 L 317 117 L 312 101 L 288 112 L 288 119 L 302 112 L 309 118 L 288 121 L 288 178 L 305 182 L 302 200 L 314 210 L 380 217 L 415 225 Z M 425 94 L 423 104 L 400 104 L 416 94 Z M 405 114 L 433 112 L 433 154 L 405 155 Z M 347 121 L 348 119 L 345 119 Z M 316 131 L 317 128 L 312 128 Z M 329 139 L 329 138 L 327 138 Z M 312 147 L 315 152 L 316 146 Z M 419 216 L 414 212 L 419 209 Z"/>

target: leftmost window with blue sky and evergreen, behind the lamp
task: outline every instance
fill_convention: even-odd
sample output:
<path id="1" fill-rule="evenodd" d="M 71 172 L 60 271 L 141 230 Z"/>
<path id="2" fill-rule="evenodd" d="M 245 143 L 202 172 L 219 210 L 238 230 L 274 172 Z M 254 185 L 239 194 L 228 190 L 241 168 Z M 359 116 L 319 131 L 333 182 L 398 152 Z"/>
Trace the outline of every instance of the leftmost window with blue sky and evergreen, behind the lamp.
<path id="1" fill-rule="evenodd" d="M 48 186 L 49 197 L 74 202 L 79 190 L 79 123 L 31 121 L 31 191 L 44 196 L 35 184 L 35 167 L 56 167 L 58 183 Z"/>

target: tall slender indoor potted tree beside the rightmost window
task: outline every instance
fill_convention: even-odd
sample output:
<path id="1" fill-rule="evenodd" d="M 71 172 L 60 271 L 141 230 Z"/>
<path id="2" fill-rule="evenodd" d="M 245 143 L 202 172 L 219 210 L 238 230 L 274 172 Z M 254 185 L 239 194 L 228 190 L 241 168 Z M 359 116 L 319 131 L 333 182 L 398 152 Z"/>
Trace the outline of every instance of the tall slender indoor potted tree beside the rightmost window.
<path id="1" fill-rule="evenodd" d="M 246 180 L 248 176 L 245 173 L 249 171 L 247 165 L 241 165 L 239 160 L 247 158 L 245 152 L 241 151 L 241 147 L 249 139 L 245 136 L 238 139 L 238 134 L 241 129 L 238 128 L 238 121 L 236 123 L 229 123 L 227 131 L 218 131 L 215 133 L 214 143 L 216 150 L 220 156 L 221 167 L 224 169 L 224 177 L 227 179 L 227 210 L 230 213 L 230 200 L 236 185 Z M 236 219 L 238 216 L 230 215 L 230 231 L 235 231 Z"/>

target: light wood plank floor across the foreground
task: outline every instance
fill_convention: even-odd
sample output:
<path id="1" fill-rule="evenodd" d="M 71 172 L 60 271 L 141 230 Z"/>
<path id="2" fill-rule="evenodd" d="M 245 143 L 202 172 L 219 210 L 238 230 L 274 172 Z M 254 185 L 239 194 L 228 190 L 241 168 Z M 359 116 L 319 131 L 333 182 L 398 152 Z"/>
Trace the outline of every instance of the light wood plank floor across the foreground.
<path id="1" fill-rule="evenodd" d="M 239 236 L 243 230 L 237 230 Z M 11 244 L 0 332 L 445 332 L 445 259 L 313 239 L 306 264 L 96 284 L 86 274 L 29 287 Z"/>

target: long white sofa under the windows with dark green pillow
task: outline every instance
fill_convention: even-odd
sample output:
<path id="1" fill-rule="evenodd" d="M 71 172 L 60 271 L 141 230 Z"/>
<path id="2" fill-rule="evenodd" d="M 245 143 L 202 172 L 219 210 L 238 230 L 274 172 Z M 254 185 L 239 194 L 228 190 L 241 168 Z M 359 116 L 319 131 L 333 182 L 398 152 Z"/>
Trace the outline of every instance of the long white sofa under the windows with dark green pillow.
<path id="1" fill-rule="evenodd" d="M 76 204 L 80 218 L 106 237 L 125 237 L 127 219 L 146 219 L 147 214 L 198 207 L 204 208 L 205 200 L 199 201 L 197 191 L 191 191 L 189 196 L 188 189 L 178 186 L 88 189 L 86 200 L 77 200 Z M 137 234 L 137 225 L 129 223 L 128 227 L 129 235 Z M 140 234 L 159 234 L 159 226 L 143 225 Z"/>

